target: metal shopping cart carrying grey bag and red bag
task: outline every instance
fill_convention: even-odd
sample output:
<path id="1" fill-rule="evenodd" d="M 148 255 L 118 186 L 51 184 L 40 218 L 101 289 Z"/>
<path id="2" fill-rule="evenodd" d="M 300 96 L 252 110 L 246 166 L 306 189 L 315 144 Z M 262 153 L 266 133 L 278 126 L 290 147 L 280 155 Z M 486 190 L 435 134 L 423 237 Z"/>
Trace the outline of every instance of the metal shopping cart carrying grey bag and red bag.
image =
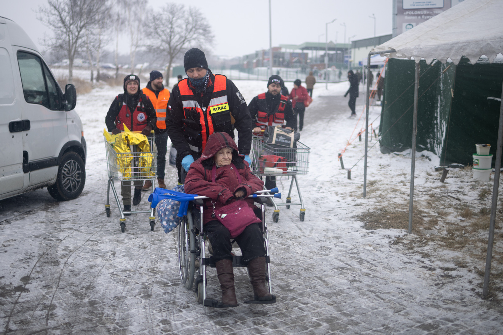
<path id="1" fill-rule="evenodd" d="M 280 210 L 278 206 L 300 205 L 299 218 L 304 221 L 306 209 L 300 193 L 298 174 L 307 174 L 309 170 L 309 151 L 305 144 L 297 141 L 295 148 L 283 146 L 270 146 L 264 143 L 262 136 L 253 136 L 251 140 L 251 155 L 253 156 L 252 169 L 259 177 L 276 177 L 276 180 L 289 180 L 290 188 L 285 203 L 277 203 L 274 198 L 270 198 L 274 204 L 273 221 L 278 222 Z M 278 179 L 279 178 L 279 179 Z M 300 202 L 291 202 L 293 183 L 297 187 L 297 194 Z"/>

